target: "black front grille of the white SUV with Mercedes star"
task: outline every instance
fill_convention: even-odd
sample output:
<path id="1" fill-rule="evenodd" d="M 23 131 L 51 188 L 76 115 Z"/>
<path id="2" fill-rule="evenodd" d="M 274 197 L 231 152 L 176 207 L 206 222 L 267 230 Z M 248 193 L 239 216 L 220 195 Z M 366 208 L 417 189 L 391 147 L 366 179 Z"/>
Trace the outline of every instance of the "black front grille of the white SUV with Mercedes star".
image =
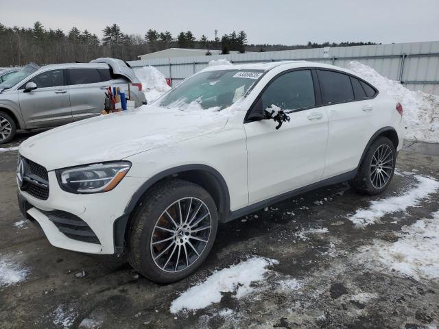
<path id="1" fill-rule="evenodd" d="M 26 191 L 36 199 L 47 200 L 49 198 L 49 175 L 47 170 L 41 164 L 27 158 L 21 157 L 21 160 L 27 164 L 25 172 L 23 172 L 25 177 L 23 178 L 21 190 Z"/>

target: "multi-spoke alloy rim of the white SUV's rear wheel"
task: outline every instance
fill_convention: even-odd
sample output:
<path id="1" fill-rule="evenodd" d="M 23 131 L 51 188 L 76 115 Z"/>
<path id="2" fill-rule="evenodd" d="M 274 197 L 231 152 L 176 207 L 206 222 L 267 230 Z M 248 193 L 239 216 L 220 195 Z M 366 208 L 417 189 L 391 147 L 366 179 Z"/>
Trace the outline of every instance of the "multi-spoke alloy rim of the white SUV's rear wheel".
<path id="1" fill-rule="evenodd" d="M 370 162 L 370 182 L 372 186 L 381 189 L 390 180 L 393 170 L 393 153 L 389 145 L 380 145 Z"/>

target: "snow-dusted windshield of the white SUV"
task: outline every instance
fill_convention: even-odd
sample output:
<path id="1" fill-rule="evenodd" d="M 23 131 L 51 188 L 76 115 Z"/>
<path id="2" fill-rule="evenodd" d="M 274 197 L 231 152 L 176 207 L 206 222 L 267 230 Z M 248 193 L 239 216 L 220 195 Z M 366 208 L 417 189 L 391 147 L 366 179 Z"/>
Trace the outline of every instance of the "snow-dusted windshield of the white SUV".
<path id="1" fill-rule="evenodd" d="M 190 110 L 222 110 L 243 97 L 261 77 L 261 70 L 219 70 L 202 72 L 182 82 L 158 99 L 157 105 Z"/>

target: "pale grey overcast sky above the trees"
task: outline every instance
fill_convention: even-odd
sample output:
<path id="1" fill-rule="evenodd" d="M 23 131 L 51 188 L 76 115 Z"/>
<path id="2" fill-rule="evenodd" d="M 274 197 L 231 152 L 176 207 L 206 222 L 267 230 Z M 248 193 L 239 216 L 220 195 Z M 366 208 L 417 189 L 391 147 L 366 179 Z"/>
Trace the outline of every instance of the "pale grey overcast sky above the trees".
<path id="1" fill-rule="evenodd" d="M 248 43 L 382 43 L 439 40 L 439 0 L 0 0 L 0 23 L 68 32 L 72 26 L 102 37 L 117 23 L 126 34 L 188 29 L 200 38 L 244 29 Z"/>

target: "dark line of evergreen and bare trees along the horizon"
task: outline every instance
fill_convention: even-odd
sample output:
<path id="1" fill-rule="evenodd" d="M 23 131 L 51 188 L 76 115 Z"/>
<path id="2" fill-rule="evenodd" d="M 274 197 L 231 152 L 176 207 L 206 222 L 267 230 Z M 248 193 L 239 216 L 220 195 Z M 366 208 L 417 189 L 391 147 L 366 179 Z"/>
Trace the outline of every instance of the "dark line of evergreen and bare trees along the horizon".
<path id="1" fill-rule="evenodd" d="M 342 42 L 318 44 L 308 42 L 307 45 L 248 45 L 244 31 L 224 34 L 221 38 L 215 29 L 212 40 L 202 34 L 196 38 L 191 31 L 180 32 L 173 36 L 171 32 L 158 32 L 148 29 L 139 34 L 125 34 L 117 24 L 106 26 L 102 30 L 102 38 L 91 34 L 87 29 L 81 31 L 72 27 L 64 33 L 61 29 L 46 29 L 39 21 L 33 27 L 6 27 L 0 23 L 0 66 L 23 66 L 28 62 L 36 64 L 56 64 L 63 62 L 89 62 L 99 57 L 114 57 L 122 60 L 137 60 L 140 55 L 163 49 L 196 48 L 205 49 L 206 55 L 211 50 L 220 49 L 227 54 L 230 51 L 274 51 L 300 48 L 373 45 L 372 42 Z"/>

